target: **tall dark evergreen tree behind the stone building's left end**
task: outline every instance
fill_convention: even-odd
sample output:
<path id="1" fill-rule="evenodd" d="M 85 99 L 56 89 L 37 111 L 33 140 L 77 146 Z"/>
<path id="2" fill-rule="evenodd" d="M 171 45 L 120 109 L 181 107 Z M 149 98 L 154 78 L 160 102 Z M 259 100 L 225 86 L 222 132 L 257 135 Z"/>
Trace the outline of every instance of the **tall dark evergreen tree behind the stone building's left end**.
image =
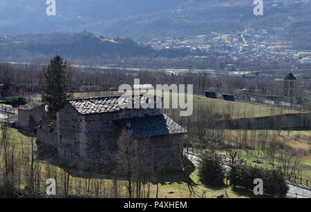
<path id="1" fill-rule="evenodd" d="M 68 70 L 66 61 L 59 55 L 50 59 L 48 68 L 44 70 L 42 81 L 42 101 L 48 102 L 48 112 L 55 117 L 57 108 L 72 97 L 68 94 Z"/>

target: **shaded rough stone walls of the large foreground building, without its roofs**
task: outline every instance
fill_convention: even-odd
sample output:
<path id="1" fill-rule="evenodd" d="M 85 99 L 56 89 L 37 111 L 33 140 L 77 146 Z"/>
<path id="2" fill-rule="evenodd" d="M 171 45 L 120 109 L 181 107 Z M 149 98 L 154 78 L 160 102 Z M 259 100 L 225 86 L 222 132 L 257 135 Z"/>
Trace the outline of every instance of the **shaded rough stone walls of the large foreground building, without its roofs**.
<path id="1" fill-rule="evenodd" d="M 117 139 L 122 128 L 113 120 L 161 115 L 162 109 L 131 109 L 115 113 L 80 115 L 66 104 L 57 113 L 57 155 L 59 160 L 88 169 L 94 166 L 113 168 L 116 165 Z M 45 139 L 39 133 L 39 139 Z M 153 137 L 146 141 L 152 171 L 182 170 L 182 135 Z M 49 140 L 48 143 L 53 142 Z"/>

